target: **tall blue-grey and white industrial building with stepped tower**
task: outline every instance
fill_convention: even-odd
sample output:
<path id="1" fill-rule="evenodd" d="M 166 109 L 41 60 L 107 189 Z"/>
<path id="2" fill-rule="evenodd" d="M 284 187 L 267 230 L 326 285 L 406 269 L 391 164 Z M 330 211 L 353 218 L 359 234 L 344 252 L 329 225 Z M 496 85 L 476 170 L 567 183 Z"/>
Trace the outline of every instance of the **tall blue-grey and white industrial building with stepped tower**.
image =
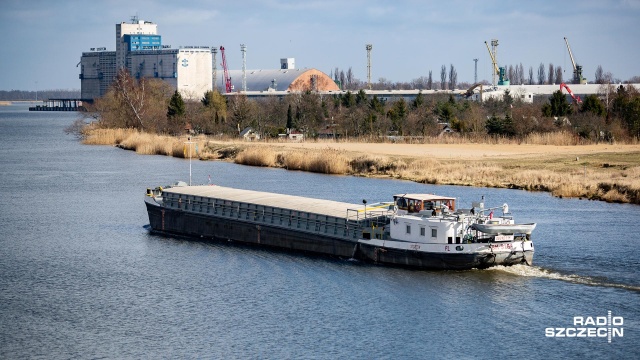
<path id="1" fill-rule="evenodd" d="M 158 26 L 138 20 L 116 24 L 116 51 L 92 48 L 80 59 L 82 99 L 96 99 L 107 93 L 118 70 L 131 76 L 157 78 L 169 83 L 186 99 L 202 98 L 212 89 L 211 49 L 185 46 L 171 49 L 162 45 Z"/>

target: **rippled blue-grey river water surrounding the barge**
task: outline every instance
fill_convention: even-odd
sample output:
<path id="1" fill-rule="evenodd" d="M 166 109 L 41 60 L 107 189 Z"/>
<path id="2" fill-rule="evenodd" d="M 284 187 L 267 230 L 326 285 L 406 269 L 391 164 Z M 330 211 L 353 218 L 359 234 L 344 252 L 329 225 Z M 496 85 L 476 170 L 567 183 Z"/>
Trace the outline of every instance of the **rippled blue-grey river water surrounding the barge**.
<path id="1" fill-rule="evenodd" d="M 640 357 L 640 206 L 194 161 L 194 183 L 353 203 L 484 195 L 538 223 L 534 266 L 416 271 L 162 237 L 145 189 L 188 181 L 189 162 L 81 145 L 63 131 L 76 118 L 0 107 L 0 358 Z"/>

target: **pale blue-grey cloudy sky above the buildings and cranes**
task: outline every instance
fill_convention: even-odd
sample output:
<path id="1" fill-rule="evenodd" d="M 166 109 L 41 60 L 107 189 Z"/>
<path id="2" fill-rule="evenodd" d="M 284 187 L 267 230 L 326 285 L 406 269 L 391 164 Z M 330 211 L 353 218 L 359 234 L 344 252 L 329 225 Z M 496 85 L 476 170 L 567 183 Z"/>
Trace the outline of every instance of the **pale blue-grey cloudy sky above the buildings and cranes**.
<path id="1" fill-rule="evenodd" d="M 491 80 L 484 42 L 498 39 L 501 66 L 572 65 L 564 42 L 591 82 L 598 65 L 614 78 L 640 76 L 640 0 L 0 0 L 0 90 L 80 89 L 76 64 L 91 47 L 115 50 L 115 24 L 131 17 L 158 24 L 164 45 L 220 46 L 230 69 L 298 68 L 330 74 L 352 68 L 366 81 L 410 81 L 451 64 L 458 82 Z M 218 56 L 218 62 L 220 57 Z"/>

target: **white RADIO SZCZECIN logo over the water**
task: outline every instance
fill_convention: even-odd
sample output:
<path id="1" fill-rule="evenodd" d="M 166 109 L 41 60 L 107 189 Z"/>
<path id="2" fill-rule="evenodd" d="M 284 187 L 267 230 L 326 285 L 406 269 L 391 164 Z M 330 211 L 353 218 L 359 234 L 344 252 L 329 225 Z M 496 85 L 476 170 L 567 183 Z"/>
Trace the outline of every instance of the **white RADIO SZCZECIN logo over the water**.
<path id="1" fill-rule="evenodd" d="M 622 316 L 574 316 L 573 327 L 554 327 L 544 329 L 546 337 L 602 337 L 611 338 L 624 336 L 624 318 Z"/>

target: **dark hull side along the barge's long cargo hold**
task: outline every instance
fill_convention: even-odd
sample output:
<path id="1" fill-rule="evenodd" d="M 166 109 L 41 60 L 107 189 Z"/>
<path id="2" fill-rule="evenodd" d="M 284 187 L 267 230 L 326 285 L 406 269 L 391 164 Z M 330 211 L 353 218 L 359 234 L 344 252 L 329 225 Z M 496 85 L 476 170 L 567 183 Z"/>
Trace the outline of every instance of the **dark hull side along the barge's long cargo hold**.
<path id="1" fill-rule="evenodd" d="M 153 232 L 351 258 L 355 241 L 166 208 L 146 202 Z"/>

